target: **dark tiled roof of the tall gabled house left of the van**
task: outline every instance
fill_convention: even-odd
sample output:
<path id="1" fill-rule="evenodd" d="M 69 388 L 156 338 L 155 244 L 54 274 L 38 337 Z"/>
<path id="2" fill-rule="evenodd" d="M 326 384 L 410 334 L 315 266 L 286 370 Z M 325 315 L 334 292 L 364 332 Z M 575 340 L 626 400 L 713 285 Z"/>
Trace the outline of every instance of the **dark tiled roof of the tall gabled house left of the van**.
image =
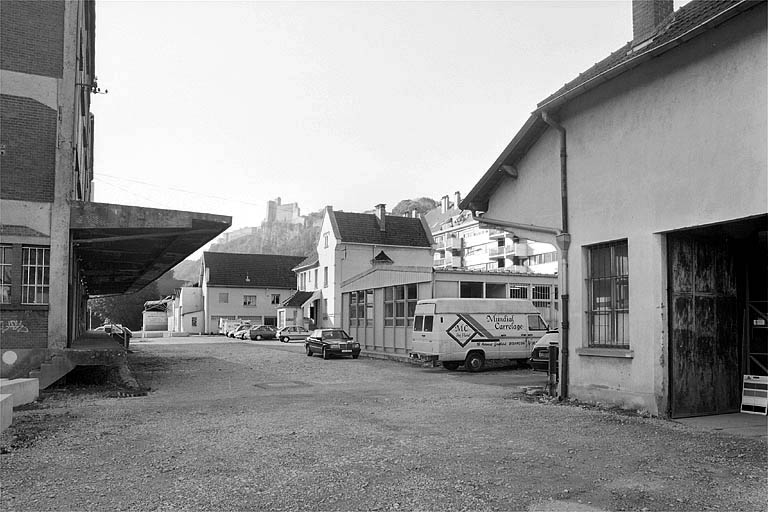
<path id="1" fill-rule="evenodd" d="M 379 229 L 376 215 L 333 212 L 342 241 L 349 243 L 430 247 L 429 236 L 420 219 L 385 216 L 386 231 Z"/>

